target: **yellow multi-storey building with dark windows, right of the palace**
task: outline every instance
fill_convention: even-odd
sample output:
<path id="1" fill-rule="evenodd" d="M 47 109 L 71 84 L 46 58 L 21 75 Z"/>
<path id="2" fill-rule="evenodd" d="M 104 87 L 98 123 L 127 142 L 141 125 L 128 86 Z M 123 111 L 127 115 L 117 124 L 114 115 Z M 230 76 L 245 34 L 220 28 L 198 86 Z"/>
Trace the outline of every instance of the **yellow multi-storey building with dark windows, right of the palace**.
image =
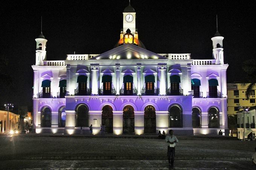
<path id="1" fill-rule="evenodd" d="M 255 90 L 251 91 L 251 95 L 249 100 L 246 100 L 245 92 L 247 89 L 248 84 L 245 84 L 245 86 L 242 86 L 241 83 L 234 83 L 234 84 L 227 84 L 227 114 L 228 116 L 236 115 L 236 112 L 239 111 L 239 106 L 244 107 L 251 107 L 256 106 L 255 103 Z"/>

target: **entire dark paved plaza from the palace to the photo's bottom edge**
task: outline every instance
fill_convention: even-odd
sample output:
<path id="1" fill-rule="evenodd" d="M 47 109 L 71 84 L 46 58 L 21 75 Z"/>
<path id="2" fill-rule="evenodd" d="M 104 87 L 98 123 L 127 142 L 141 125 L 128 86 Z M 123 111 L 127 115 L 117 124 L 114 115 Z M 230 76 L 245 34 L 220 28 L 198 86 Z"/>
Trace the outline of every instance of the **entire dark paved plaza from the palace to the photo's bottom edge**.
<path id="1" fill-rule="evenodd" d="M 253 169 L 254 141 L 178 138 L 175 169 Z M 167 146 L 144 137 L 0 136 L 0 168 L 169 169 Z"/>

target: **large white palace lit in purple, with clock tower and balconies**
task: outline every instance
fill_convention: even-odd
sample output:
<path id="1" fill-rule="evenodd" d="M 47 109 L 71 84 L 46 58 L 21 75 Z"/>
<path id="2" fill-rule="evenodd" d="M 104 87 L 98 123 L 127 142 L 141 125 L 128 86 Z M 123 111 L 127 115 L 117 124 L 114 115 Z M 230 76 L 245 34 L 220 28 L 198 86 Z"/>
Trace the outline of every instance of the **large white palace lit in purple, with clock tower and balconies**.
<path id="1" fill-rule="evenodd" d="M 46 60 L 46 38 L 36 40 L 33 126 L 37 133 L 227 133 L 227 89 L 222 37 L 212 37 L 213 59 L 156 54 L 145 48 L 136 12 L 123 11 L 113 49 Z M 164 42 L 162 42 L 164 43 Z M 160 43 L 158 43 L 160 44 Z M 168 51 L 168 49 L 166 49 Z"/>

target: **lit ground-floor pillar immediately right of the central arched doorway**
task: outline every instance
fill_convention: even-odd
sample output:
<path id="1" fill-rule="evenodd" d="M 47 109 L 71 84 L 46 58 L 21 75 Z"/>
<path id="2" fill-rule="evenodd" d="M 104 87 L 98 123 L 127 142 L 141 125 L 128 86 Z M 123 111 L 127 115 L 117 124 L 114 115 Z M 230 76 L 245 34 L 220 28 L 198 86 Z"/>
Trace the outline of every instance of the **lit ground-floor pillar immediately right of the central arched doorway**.
<path id="1" fill-rule="evenodd" d="M 144 112 L 134 111 L 134 132 L 135 134 L 144 134 Z"/>

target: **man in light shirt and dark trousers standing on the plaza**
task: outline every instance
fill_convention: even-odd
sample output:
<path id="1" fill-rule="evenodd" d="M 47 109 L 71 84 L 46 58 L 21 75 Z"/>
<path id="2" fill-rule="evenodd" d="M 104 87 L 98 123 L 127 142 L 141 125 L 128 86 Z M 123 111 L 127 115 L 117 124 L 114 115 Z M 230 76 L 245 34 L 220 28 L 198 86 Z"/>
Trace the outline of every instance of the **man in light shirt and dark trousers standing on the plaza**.
<path id="1" fill-rule="evenodd" d="M 177 137 L 173 134 L 173 130 L 169 130 L 169 135 L 165 137 L 165 141 L 169 143 L 167 157 L 170 166 L 174 166 L 174 155 L 175 155 L 175 145 L 178 143 Z"/>

